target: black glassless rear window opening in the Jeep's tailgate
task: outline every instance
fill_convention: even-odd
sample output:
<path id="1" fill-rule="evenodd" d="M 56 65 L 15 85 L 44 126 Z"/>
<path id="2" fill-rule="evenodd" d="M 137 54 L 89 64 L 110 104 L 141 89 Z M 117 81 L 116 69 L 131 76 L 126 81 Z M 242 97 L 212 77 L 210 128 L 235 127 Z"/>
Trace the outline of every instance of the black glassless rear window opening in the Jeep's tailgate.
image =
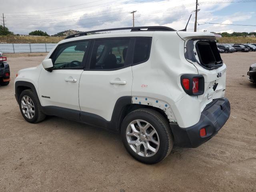
<path id="1" fill-rule="evenodd" d="M 222 59 L 215 41 L 198 41 L 196 50 L 200 64 L 208 69 L 222 66 Z"/>

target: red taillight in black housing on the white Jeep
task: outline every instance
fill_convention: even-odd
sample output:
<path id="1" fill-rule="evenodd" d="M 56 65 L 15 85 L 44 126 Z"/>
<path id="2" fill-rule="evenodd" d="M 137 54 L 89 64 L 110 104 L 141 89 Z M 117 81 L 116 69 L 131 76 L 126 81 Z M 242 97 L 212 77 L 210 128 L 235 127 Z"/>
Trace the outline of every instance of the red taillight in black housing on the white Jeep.
<path id="1" fill-rule="evenodd" d="M 180 77 L 182 88 L 188 95 L 204 94 L 204 76 L 184 74 Z"/>

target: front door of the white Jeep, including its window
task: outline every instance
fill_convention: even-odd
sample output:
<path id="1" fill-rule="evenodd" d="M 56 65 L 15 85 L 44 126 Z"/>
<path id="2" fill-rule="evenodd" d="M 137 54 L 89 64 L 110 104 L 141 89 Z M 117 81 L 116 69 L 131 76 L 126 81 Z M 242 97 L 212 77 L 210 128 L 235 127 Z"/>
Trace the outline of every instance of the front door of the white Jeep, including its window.
<path id="1" fill-rule="evenodd" d="M 76 114 L 72 119 L 80 119 L 78 87 L 84 71 L 88 41 L 69 42 L 58 46 L 51 56 L 51 72 L 42 69 L 38 89 L 42 106 L 60 111 L 57 116 Z M 62 111 L 62 112 L 61 112 Z"/>

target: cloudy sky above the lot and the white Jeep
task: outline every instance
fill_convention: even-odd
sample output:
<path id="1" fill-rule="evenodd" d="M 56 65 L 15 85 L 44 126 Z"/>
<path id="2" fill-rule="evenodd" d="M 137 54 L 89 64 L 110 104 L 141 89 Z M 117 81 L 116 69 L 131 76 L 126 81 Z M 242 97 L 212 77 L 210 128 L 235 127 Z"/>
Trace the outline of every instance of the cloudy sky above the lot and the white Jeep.
<path id="1" fill-rule="evenodd" d="M 15 34 L 43 30 L 48 34 L 132 26 L 169 26 L 181 30 L 192 13 L 188 31 L 194 31 L 196 0 L 3 0 L 0 14 Z M 256 0 L 198 0 L 197 31 L 256 32 Z M 1 21 L 2 22 L 2 21 Z"/>

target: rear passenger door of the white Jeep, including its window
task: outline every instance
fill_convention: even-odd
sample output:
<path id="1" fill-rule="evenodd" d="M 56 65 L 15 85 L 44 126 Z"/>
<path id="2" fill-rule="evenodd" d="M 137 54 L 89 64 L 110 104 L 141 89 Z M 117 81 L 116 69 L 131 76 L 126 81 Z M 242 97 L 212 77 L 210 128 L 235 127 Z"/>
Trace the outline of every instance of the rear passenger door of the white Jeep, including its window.
<path id="1" fill-rule="evenodd" d="M 95 40 L 79 85 L 81 119 L 88 116 L 110 121 L 118 98 L 131 96 L 130 38 Z"/>

